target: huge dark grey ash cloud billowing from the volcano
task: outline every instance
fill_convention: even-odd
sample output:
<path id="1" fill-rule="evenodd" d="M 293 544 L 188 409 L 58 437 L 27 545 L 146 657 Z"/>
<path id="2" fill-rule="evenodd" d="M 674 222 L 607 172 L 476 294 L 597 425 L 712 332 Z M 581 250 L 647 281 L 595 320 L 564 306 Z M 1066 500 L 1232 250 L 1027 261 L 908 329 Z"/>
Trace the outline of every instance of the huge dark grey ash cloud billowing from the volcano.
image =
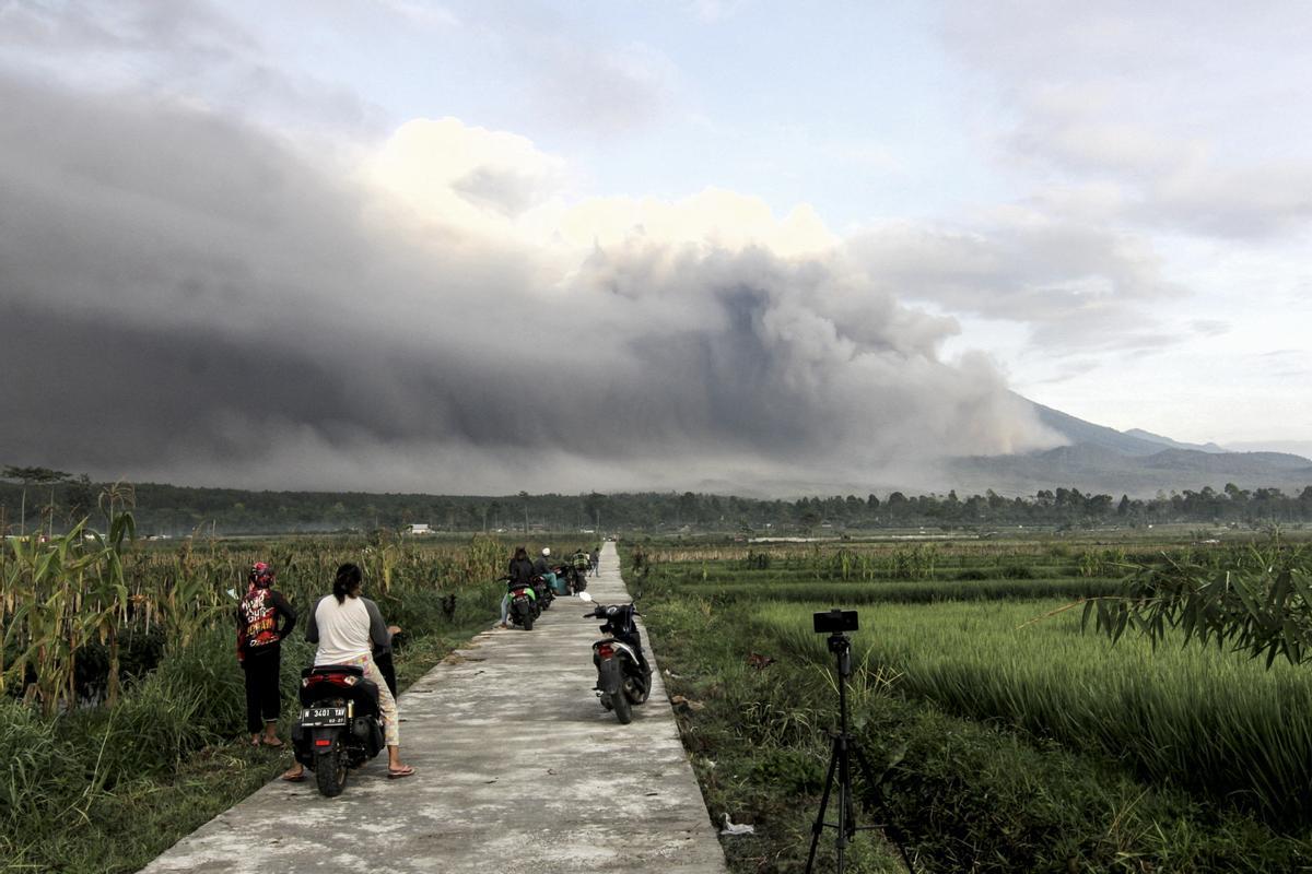
<path id="1" fill-rule="evenodd" d="M 1056 442 L 987 359 L 939 359 L 951 320 L 838 249 L 634 235 L 569 263 L 415 221 L 349 168 L 192 104 L 14 79 L 0 104 L 7 464 L 257 487 L 846 491 Z M 506 191 L 480 190 L 504 212 Z"/>

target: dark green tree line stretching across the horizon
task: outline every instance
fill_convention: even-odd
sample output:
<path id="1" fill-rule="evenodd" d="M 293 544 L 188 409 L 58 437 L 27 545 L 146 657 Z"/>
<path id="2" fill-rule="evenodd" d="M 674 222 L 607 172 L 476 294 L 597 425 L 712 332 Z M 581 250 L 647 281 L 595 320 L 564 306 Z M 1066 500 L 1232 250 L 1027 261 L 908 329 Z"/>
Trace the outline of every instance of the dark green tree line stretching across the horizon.
<path id="1" fill-rule="evenodd" d="M 1202 489 L 1119 498 L 1075 487 L 1005 497 L 892 491 L 792 501 L 694 491 L 476 497 L 395 493 L 249 491 L 165 484 L 93 482 L 46 468 L 0 472 L 0 531 L 62 532 L 84 518 L 96 528 L 110 504 L 130 504 L 147 535 L 241 535 L 373 531 L 422 523 L 438 532 L 668 531 L 829 533 L 879 528 L 988 529 L 1004 525 L 1080 527 L 1200 523 L 1261 525 L 1312 522 L 1312 485 L 1281 489 Z"/>

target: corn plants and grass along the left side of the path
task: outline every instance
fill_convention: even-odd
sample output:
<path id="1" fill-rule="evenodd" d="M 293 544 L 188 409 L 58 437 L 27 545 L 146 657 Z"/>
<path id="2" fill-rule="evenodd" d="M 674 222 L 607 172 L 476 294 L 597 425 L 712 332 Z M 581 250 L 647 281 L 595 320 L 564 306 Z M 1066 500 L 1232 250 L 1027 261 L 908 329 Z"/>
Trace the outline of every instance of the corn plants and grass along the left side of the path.
<path id="1" fill-rule="evenodd" d="M 487 628 L 505 545 L 487 537 L 134 542 L 117 508 L 108 537 L 75 527 L 0 545 L 0 858 L 5 870 L 135 871 L 290 764 L 245 734 L 232 609 L 256 560 L 298 612 L 342 561 L 405 629 L 401 688 Z M 230 591 L 231 590 L 231 591 Z M 299 667 L 283 642 L 290 736 Z M 290 744 L 287 747 L 290 750 Z"/>

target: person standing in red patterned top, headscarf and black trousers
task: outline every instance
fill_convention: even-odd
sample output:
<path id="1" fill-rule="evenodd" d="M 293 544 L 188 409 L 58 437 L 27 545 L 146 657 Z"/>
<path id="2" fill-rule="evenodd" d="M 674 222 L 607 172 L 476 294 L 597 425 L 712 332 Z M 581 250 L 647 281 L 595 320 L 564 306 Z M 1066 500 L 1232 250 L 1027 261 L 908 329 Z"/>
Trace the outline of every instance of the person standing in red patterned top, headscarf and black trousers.
<path id="1" fill-rule="evenodd" d="M 283 746 L 278 740 L 282 694 L 282 638 L 297 625 L 297 612 L 273 588 L 273 569 L 262 561 L 251 566 L 247 594 L 237 604 L 237 660 L 245 675 L 247 731 L 251 746 Z"/>

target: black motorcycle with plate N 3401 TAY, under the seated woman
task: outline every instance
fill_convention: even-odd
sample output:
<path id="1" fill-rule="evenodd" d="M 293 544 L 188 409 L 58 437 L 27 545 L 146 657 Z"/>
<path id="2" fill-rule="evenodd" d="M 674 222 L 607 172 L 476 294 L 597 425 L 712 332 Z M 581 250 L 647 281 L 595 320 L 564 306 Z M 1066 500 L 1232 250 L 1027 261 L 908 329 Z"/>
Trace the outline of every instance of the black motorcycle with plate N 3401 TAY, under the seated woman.
<path id="1" fill-rule="evenodd" d="M 383 748 L 378 685 L 353 664 L 300 672 L 300 718 L 291 729 L 297 761 L 315 772 L 319 791 L 335 798 L 358 768 Z"/>

